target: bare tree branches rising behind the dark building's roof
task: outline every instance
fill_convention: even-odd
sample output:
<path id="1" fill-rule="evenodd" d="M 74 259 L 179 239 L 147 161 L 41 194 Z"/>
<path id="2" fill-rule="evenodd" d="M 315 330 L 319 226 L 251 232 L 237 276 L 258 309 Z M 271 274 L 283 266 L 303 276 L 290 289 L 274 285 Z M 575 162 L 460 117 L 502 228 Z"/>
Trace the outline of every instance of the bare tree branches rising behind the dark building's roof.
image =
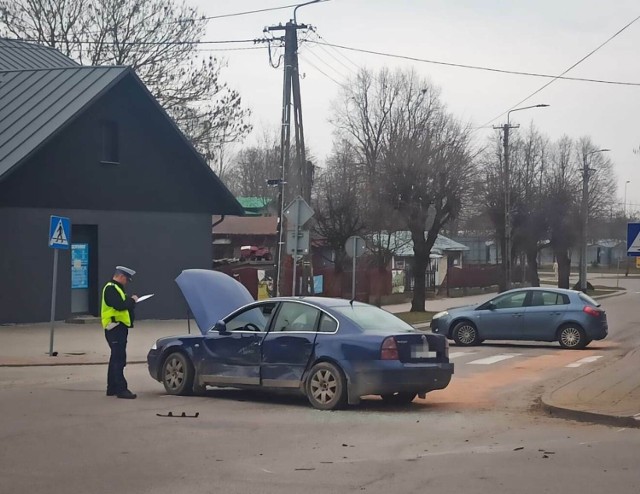
<path id="1" fill-rule="evenodd" d="M 208 160 L 250 130 L 224 62 L 201 57 L 206 22 L 177 0 L 0 0 L 0 34 L 89 65 L 128 65 Z"/>

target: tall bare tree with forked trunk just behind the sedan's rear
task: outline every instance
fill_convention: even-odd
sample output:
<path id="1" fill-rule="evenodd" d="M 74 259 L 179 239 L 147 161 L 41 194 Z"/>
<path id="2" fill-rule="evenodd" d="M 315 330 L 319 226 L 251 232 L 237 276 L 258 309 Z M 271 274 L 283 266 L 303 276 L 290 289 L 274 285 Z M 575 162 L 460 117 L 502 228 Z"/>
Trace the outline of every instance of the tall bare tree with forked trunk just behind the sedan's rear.
<path id="1" fill-rule="evenodd" d="M 411 232 L 411 310 L 424 311 L 431 248 L 470 190 L 466 178 L 473 170 L 471 145 L 469 129 L 447 112 L 436 88 L 413 72 L 399 73 L 396 81 L 399 97 L 379 186 Z"/>

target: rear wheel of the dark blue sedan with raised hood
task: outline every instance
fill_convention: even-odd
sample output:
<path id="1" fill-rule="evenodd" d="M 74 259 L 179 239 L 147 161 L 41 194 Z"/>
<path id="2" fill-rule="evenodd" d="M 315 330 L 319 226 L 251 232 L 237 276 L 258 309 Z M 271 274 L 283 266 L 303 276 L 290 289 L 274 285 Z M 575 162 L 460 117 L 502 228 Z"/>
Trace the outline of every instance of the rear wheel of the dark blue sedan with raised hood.
<path id="1" fill-rule="evenodd" d="M 346 380 L 340 369 L 329 362 L 311 368 L 306 387 L 309 402 L 319 410 L 337 410 L 346 402 Z"/>

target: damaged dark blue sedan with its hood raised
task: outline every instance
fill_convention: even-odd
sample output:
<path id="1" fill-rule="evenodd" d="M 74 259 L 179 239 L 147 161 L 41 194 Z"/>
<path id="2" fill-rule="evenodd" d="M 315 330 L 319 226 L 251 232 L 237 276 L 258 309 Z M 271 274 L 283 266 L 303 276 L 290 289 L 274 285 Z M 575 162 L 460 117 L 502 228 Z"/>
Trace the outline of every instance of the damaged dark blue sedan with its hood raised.
<path id="1" fill-rule="evenodd" d="M 323 297 L 255 302 L 236 280 L 208 270 L 185 270 L 176 282 L 201 334 L 161 338 L 149 351 L 149 373 L 169 394 L 290 390 L 333 410 L 365 395 L 409 403 L 451 380 L 444 336 L 377 307 Z"/>

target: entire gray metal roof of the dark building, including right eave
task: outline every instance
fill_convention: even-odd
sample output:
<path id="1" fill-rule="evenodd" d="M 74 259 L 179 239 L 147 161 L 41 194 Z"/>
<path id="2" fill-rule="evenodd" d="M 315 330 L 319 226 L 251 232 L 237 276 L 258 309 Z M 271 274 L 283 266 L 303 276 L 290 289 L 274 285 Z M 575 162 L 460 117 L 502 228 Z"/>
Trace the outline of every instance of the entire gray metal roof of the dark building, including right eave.
<path id="1" fill-rule="evenodd" d="M 0 182 L 125 77 L 145 92 L 215 182 L 219 195 L 212 199 L 216 207 L 211 212 L 243 215 L 242 206 L 131 68 L 85 67 L 52 48 L 2 38 Z"/>

